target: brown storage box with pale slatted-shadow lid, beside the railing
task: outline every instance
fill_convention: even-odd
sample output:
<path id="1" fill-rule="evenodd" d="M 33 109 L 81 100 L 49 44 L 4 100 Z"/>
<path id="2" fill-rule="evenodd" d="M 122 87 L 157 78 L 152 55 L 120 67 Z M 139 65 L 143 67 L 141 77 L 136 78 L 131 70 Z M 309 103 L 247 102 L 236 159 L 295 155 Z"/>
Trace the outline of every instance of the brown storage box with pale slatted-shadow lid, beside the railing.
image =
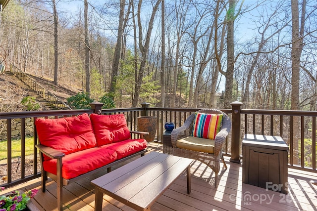
<path id="1" fill-rule="evenodd" d="M 245 134 L 242 182 L 287 194 L 288 146 L 280 136 Z"/>

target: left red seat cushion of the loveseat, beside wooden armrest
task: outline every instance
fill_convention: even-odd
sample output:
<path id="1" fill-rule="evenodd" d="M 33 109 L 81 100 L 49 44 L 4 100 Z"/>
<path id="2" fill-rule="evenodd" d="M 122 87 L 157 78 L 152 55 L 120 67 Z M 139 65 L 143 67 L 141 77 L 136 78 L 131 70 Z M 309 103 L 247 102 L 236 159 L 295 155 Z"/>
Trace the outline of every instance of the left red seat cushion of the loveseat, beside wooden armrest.
<path id="1" fill-rule="evenodd" d="M 89 171 L 101 168 L 116 160 L 114 150 L 94 147 L 68 154 L 62 158 L 62 177 L 71 179 Z M 56 175 L 56 159 L 44 161 L 44 170 Z"/>

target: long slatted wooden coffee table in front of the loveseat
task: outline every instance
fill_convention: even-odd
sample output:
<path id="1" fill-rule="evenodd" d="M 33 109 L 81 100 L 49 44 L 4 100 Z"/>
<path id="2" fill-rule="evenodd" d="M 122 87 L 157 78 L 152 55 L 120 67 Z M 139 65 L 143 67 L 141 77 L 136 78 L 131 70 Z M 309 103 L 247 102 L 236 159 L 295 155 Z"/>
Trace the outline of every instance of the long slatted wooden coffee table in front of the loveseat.
<path id="1" fill-rule="evenodd" d="M 190 164 L 193 160 L 151 152 L 129 164 L 91 181 L 95 186 L 95 211 L 102 210 L 103 195 L 138 211 L 150 211 L 151 205 L 187 169 L 187 193 L 190 194 Z"/>

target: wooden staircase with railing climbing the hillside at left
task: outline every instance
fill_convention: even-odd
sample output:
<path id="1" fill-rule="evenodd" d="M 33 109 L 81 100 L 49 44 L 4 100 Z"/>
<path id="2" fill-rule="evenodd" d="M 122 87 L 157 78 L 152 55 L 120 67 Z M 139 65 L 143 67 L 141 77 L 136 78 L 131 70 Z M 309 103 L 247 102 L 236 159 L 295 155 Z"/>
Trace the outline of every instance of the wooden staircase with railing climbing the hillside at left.
<path id="1" fill-rule="evenodd" d="M 23 82 L 29 88 L 29 91 L 32 91 L 35 94 L 37 101 L 45 106 L 45 108 L 48 108 L 49 110 L 71 110 L 71 108 L 65 102 L 56 97 L 51 91 L 42 87 L 28 74 L 22 72 L 12 64 L 10 67 L 10 73 Z"/>

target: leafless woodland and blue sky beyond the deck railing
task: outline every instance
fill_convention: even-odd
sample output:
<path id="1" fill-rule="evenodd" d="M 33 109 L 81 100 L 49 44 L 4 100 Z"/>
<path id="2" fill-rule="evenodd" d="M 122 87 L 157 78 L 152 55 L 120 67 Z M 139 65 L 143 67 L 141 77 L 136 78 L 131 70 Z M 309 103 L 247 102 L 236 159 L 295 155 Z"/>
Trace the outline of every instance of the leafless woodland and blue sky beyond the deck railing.
<path id="1" fill-rule="evenodd" d="M 0 64 L 117 108 L 316 110 L 316 23 L 316 0 L 10 0 Z"/>

